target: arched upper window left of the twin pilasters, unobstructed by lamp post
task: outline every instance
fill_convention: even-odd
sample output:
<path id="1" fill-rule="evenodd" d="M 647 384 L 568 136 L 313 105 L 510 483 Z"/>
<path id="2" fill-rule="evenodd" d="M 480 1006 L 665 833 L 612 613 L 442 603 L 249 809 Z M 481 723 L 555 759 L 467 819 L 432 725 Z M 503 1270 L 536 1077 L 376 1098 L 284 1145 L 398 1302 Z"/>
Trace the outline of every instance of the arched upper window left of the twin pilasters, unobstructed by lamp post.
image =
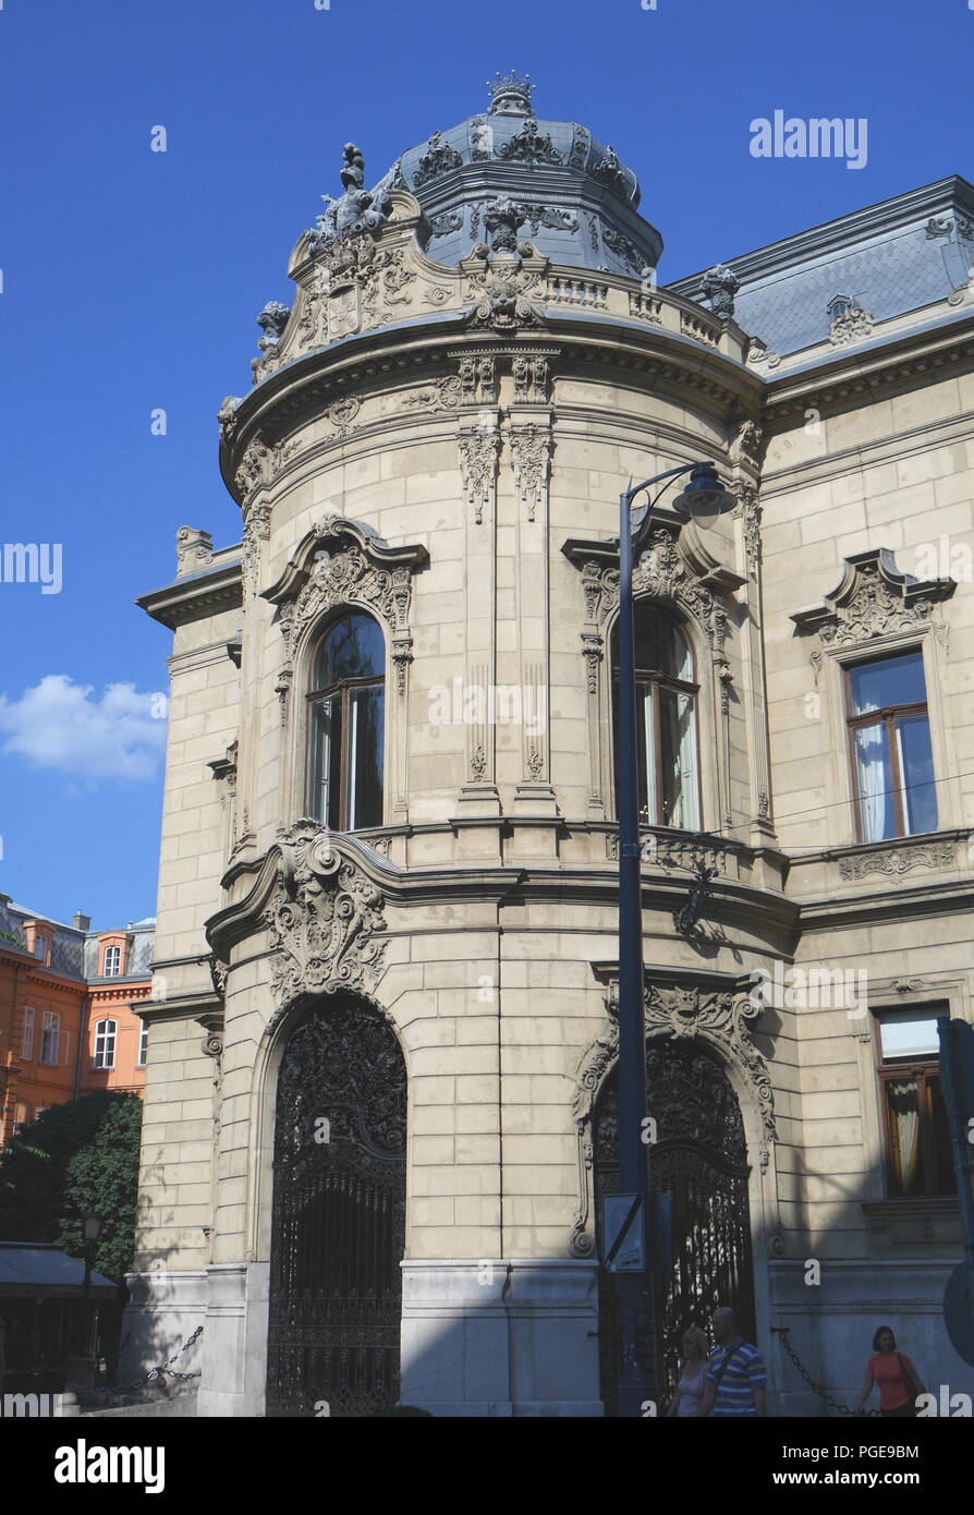
<path id="1" fill-rule="evenodd" d="M 335 832 L 382 826 L 385 641 L 370 615 L 327 627 L 311 685 L 311 815 Z"/>

